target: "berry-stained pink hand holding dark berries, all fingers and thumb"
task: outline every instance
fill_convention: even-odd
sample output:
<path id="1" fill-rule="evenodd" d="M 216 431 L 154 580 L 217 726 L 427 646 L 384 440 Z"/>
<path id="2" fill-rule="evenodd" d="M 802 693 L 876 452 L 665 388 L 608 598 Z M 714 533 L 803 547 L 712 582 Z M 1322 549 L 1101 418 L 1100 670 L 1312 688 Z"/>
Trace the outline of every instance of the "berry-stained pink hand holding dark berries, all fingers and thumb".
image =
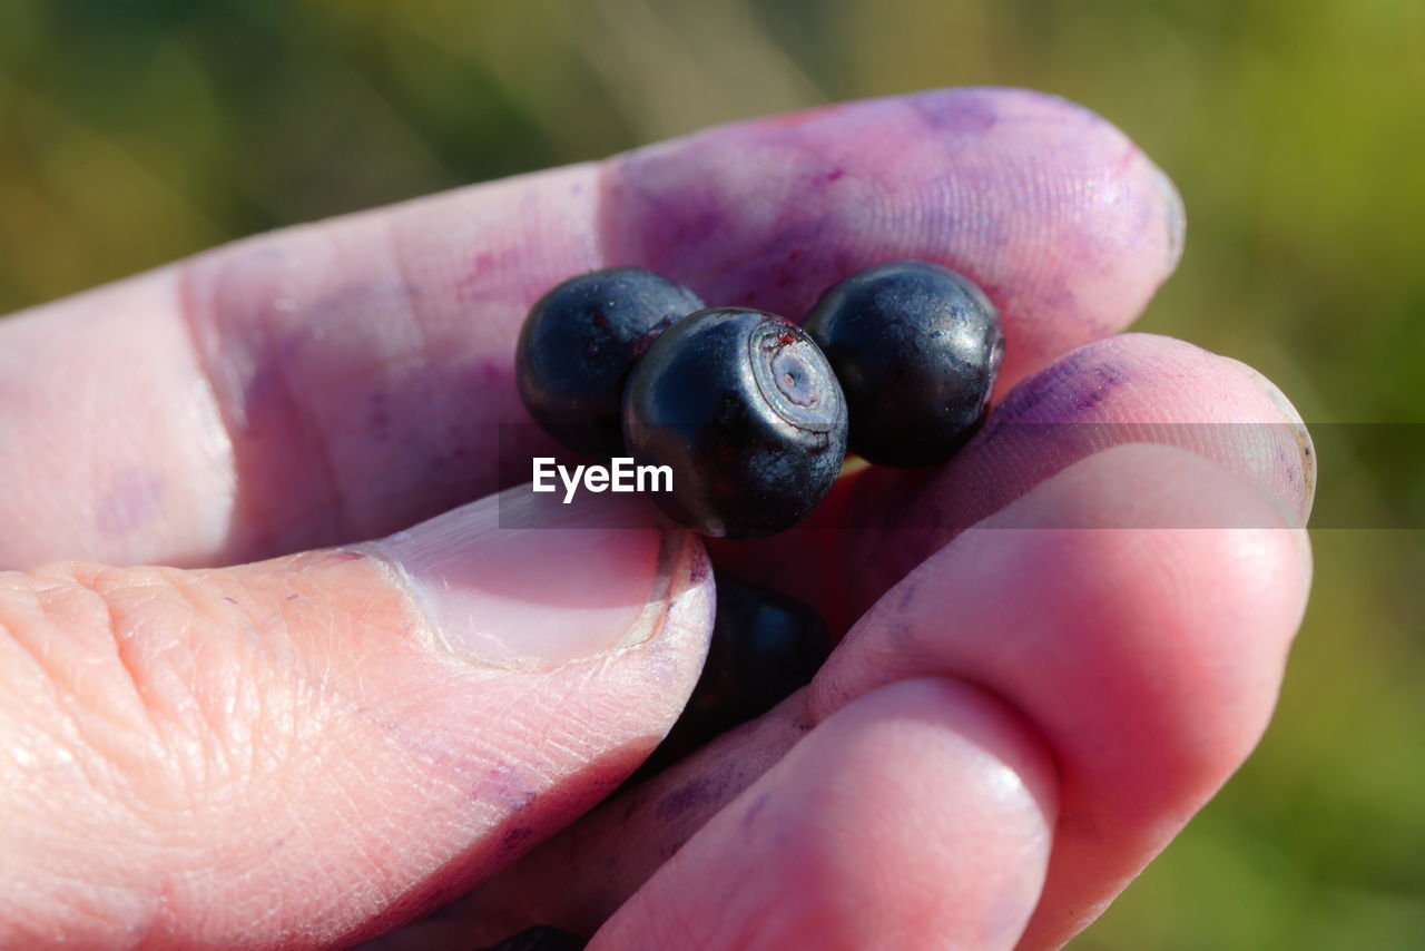
<path id="1" fill-rule="evenodd" d="M 262 235 L 0 322 L 0 945 L 463 950 L 550 922 L 594 948 L 1060 947 L 1251 751 L 1310 585 L 1290 403 L 1113 336 L 1181 221 L 1092 113 L 935 91 Z M 1000 309 L 999 423 L 708 545 L 844 640 L 596 808 L 695 680 L 703 543 L 587 528 L 640 505 L 607 495 L 577 526 L 527 513 L 569 530 L 509 533 L 502 499 L 358 543 L 556 455 L 499 423 L 529 422 L 514 339 L 563 278 L 637 264 L 799 317 L 899 258 Z"/>

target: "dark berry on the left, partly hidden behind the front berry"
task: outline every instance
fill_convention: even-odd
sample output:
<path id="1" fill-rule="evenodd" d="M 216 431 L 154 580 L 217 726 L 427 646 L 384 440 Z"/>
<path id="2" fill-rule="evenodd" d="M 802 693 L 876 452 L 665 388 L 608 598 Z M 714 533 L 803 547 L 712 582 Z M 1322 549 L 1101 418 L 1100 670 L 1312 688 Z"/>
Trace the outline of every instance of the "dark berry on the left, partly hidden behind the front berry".
<path id="1" fill-rule="evenodd" d="M 564 446 L 598 459 L 623 455 L 624 384 L 648 345 L 703 301 L 643 268 L 591 271 L 530 309 L 514 355 L 520 398 Z"/>

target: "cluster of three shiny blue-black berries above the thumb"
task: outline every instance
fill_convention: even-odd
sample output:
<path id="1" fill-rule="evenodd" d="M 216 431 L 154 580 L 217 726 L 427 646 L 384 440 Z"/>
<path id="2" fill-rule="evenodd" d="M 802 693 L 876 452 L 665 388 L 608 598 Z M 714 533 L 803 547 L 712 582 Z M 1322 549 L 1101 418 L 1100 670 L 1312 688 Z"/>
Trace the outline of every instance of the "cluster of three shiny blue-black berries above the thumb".
<path id="1" fill-rule="evenodd" d="M 530 415 L 564 446 L 667 466 L 656 500 L 673 519 L 761 538 L 825 498 L 848 446 L 888 466 L 948 459 L 983 421 L 1003 355 L 983 291 L 925 261 L 848 277 L 802 327 L 611 268 L 540 298 L 516 368 Z"/>

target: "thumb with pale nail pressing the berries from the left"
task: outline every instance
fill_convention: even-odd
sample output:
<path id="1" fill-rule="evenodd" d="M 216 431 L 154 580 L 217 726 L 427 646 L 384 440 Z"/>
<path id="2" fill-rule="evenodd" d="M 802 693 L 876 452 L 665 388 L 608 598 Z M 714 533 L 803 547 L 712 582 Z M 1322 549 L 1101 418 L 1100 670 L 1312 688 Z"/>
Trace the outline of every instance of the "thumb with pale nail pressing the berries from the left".
<path id="1" fill-rule="evenodd" d="M 349 942 L 593 806 L 691 692 L 711 572 L 637 502 L 550 499 L 0 573 L 0 947 Z"/>

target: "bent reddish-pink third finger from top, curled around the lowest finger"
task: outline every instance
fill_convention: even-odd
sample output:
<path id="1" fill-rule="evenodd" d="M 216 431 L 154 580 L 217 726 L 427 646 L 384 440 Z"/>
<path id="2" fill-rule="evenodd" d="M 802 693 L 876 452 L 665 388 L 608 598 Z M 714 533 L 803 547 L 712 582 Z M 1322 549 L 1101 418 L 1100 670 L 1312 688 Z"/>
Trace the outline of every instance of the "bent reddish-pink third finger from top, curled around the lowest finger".
<path id="1" fill-rule="evenodd" d="M 1247 528 L 1151 528 L 1184 516 Z M 1255 743 L 1307 587 L 1304 533 L 1261 528 L 1285 525 L 1270 496 L 1181 449 L 1082 459 L 892 589 L 809 689 L 477 888 L 428 932 L 450 944 L 410 947 L 536 921 L 590 931 L 829 711 L 926 674 L 1005 697 L 1056 754 L 1066 844 L 1026 948 L 1057 947 Z"/>

